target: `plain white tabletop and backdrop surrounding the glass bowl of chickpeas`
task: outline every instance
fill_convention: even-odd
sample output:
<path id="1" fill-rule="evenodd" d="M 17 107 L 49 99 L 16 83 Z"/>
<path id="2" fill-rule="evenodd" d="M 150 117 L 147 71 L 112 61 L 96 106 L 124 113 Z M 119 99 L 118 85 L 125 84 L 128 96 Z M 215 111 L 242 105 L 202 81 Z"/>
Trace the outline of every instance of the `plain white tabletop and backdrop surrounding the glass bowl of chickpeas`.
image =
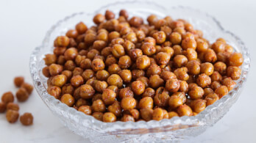
<path id="1" fill-rule="evenodd" d="M 0 0 L 0 95 L 15 92 L 13 77 L 29 75 L 29 55 L 40 45 L 46 31 L 58 20 L 74 12 L 96 10 L 108 1 L 60 0 Z M 241 97 L 230 111 L 205 133 L 185 142 L 256 142 L 255 112 L 255 32 L 256 2 L 254 0 L 175 0 L 157 2 L 165 5 L 189 6 L 215 16 L 224 29 L 237 34 L 249 48 L 252 67 Z M 88 20 L 91 21 L 91 20 Z M 20 103 L 20 114 L 32 112 L 34 125 L 24 127 L 20 122 L 10 125 L 0 114 L 0 142 L 88 142 L 60 124 L 36 92 L 26 103 Z"/>

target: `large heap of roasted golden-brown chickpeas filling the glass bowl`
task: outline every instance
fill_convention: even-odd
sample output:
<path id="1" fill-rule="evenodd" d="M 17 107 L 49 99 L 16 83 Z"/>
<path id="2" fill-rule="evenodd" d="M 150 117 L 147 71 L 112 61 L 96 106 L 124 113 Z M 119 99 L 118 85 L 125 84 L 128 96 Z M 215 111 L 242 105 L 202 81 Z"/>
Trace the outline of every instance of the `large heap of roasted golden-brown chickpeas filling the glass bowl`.
<path id="1" fill-rule="evenodd" d="M 235 87 L 243 56 L 210 44 L 188 21 L 129 18 L 126 10 L 77 23 L 54 40 L 43 75 L 49 95 L 103 122 L 195 116 Z"/>

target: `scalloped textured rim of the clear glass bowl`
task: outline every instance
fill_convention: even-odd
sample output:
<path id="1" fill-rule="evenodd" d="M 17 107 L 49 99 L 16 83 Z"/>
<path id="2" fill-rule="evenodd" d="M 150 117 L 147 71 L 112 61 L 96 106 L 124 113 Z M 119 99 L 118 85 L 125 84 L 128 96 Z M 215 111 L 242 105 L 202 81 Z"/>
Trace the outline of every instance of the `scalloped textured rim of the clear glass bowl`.
<path id="1" fill-rule="evenodd" d="M 163 9 L 166 9 L 166 7 L 163 7 L 160 4 L 156 4 L 153 1 L 117 1 L 115 3 L 110 3 L 110 4 L 107 4 L 107 5 L 104 5 L 103 7 L 100 7 L 99 10 L 96 10 L 95 12 L 77 12 L 77 13 L 74 13 L 72 15 L 68 15 L 65 18 L 58 21 L 57 23 L 55 23 L 53 26 L 51 26 L 51 28 L 48 30 L 48 32 L 46 32 L 46 36 L 43 39 L 43 43 L 40 46 L 38 46 L 37 48 L 35 48 L 35 50 L 31 54 L 30 60 L 29 60 L 29 62 L 30 62 L 29 67 L 30 67 L 30 73 L 31 73 L 31 76 L 32 76 L 32 79 L 33 79 L 33 84 L 35 86 L 35 89 L 38 92 L 38 95 L 40 95 L 40 98 L 42 98 L 43 101 L 44 101 L 44 99 L 43 99 L 41 94 L 46 94 L 52 100 L 51 102 L 53 102 L 55 104 L 57 103 L 58 104 L 57 106 L 61 106 L 61 108 L 65 111 L 68 111 L 69 114 L 73 114 L 75 117 L 77 117 L 77 116 L 82 117 L 84 119 L 90 120 L 91 122 L 96 122 L 97 124 L 95 124 L 95 125 L 96 126 L 99 125 L 99 128 L 103 128 L 103 127 L 108 128 L 108 127 L 112 127 L 113 125 L 120 125 L 122 127 L 132 125 L 132 127 L 134 127 L 134 128 L 136 128 L 136 127 L 141 128 L 141 124 L 152 127 L 152 125 L 165 125 L 166 122 L 169 122 L 171 125 L 175 125 L 179 122 L 185 122 L 186 120 L 193 120 L 195 122 L 200 122 L 200 121 L 203 121 L 205 119 L 205 117 L 207 117 L 209 115 L 210 110 L 218 108 L 218 106 L 221 106 L 222 103 L 226 103 L 226 102 L 228 102 L 228 100 L 231 100 L 233 98 L 233 95 L 235 95 L 235 92 L 230 91 L 228 95 L 226 95 L 223 98 L 221 98 L 220 100 L 216 101 L 216 103 L 214 103 L 213 105 L 207 106 L 207 108 L 204 111 L 197 114 L 196 116 L 191 116 L 191 117 L 188 117 L 188 116 L 173 117 L 171 119 L 164 119 L 164 120 L 160 120 L 160 121 L 150 120 L 149 122 L 146 122 L 146 121 L 139 121 L 139 122 L 121 122 L 121 121 L 102 122 L 102 121 L 96 120 L 94 117 L 92 117 L 90 115 L 83 114 L 82 112 L 79 112 L 79 111 L 77 111 L 77 110 L 75 110 L 75 109 L 73 109 L 69 106 L 66 106 L 64 103 L 61 103 L 60 100 L 57 100 L 57 99 L 53 98 L 51 95 L 49 95 L 45 88 L 43 89 L 43 91 L 40 91 L 39 87 L 43 85 L 43 82 L 40 81 L 40 80 L 39 80 L 39 82 L 35 80 L 36 76 L 38 76 L 38 73 L 37 73 L 38 69 L 35 65 L 35 62 L 38 60 L 37 59 L 37 54 L 40 52 L 40 49 L 43 48 L 44 45 L 49 41 L 49 37 L 50 37 L 51 33 L 54 31 L 54 29 L 57 28 L 57 26 L 59 26 L 61 23 L 65 22 L 65 21 L 68 21 L 68 19 L 73 18 L 76 15 L 94 15 L 96 12 L 99 12 L 102 9 L 105 10 L 106 7 L 108 7 L 110 5 L 126 4 L 126 3 L 131 3 L 131 2 L 132 3 L 137 3 L 137 4 L 146 2 L 147 4 L 154 4 L 157 7 L 161 7 Z M 246 45 L 243 43 L 243 41 L 238 36 L 233 34 L 232 32 L 225 30 L 221 26 L 221 23 L 218 20 L 216 20 L 216 18 L 214 18 L 212 15 L 207 14 L 207 12 L 202 12 L 201 10 L 196 10 L 196 9 L 191 8 L 191 7 L 183 7 L 183 6 L 175 6 L 175 7 L 168 7 L 168 8 L 171 8 L 171 9 L 189 9 L 189 10 L 193 10 L 195 12 L 199 12 L 202 15 L 206 15 L 208 18 L 211 18 L 215 22 L 215 24 L 218 26 L 218 29 L 220 29 L 220 31 L 224 32 L 225 34 L 230 34 L 230 36 L 235 38 L 235 40 L 239 43 L 239 45 L 241 45 L 241 48 L 243 49 L 243 58 L 244 58 L 243 61 L 244 62 L 243 62 L 242 67 L 244 67 L 244 66 L 247 67 L 246 69 L 241 68 L 241 70 L 242 70 L 241 77 L 243 76 L 243 80 L 241 80 L 241 83 L 239 84 L 239 87 L 238 87 L 238 84 L 235 85 L 235 88 L 238 87 L 238 90 L 242 89 L 244 83 L 246 82 L 246 79 L 248 78 L 248 73 L 249 73 L 249 69 L 250 69 L 250 61 L 251 61 L 250 54 L 249 54 L 249 49 L 246 48 Z"/>

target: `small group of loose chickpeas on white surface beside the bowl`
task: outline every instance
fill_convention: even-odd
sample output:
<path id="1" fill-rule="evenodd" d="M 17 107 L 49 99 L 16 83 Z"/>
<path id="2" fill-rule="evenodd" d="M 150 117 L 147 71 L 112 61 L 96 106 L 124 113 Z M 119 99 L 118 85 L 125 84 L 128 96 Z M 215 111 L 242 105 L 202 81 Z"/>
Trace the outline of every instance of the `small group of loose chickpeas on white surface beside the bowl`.
<path id="1" fill-rule="evenodd" d="M 24 77 L 18 76 L 14 78 L 15 87 L 18 87 L 18 91 L 16 92 L 16 98 L 19 102 L 24 102 L 29 98 L 29 95 L 32 94 L 34 87 L 31 84 L 24 82 Z M 14 102 L 14 95 L 12 92 L 5 92 L 1 96 L 0 102 L 0 113 L 4 113 L 6 111 L 6 119 L 10 123 L 15 123 L 18 120 L 19 113 L 18 110 L 20 107 L 17 103 Z M 22 125 L 32 125 L 33 124 L 33 116 L 31 113 L 24 113 L 20 117 L 20 122 Z"/>

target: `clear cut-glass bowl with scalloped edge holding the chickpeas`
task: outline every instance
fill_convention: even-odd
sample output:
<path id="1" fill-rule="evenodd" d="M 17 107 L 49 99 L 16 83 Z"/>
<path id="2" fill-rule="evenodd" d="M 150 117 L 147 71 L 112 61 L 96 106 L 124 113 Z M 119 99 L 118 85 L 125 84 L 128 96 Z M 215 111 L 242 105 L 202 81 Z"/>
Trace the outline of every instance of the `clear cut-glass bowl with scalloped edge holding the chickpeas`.
<path id="1" fill-rule="evenodd" d="M 210 43 L 213 43 L 218 37 L 223 37 L 227 43 L 235 48 L 235 51 L 243 54 L 241 78 L 236 81 L 237 85 L 228 95 L 213 105 L 207 106 L 205 111 L 195 117 L 173 117 L 170 120 L 152 120 L 149 122 L 118 121 L 106 123 L 66 106 L 46 91 L 47 79 L 42 74 L 42 68 L 45 67 L 43 57 L 45 54 L 53 52 L 55 37 L 65 34 L 68 29 L 74 29 L 79 21 L 92 26 L 93 15 L 99 12 L 104 13 L 107 9 L 113 10 L 116 15 L 118 15 L 119 10 L 126 9 L 130 17 L 138 15 L 144 19 L 150 14 L 157 15 L 159 18 L 171 15 L 174 19 L 183 18 L 189 21 L 195 29 L 201 29 L 204 32 L 204 37 L 210 40 Z M 151 1 L 122 1 L 108 4 L 95 12 L 79 12 L 70 15 L 49 29 L 42 45 L 35 48 L 30 57 L 30 72 L 40 98 L 53 114 L 59 117 L 63 125 L 74 133 L 89 138 L 92 142 L 176 142 L 190 136 L 197 136 L 218 122 L 229 111 L 232 104 L 238 100 L 249 67 L 249 51 L 246 46 L 235 34 L 224 30 L 216 18 L 188 7 L 168 7 Z"/>

